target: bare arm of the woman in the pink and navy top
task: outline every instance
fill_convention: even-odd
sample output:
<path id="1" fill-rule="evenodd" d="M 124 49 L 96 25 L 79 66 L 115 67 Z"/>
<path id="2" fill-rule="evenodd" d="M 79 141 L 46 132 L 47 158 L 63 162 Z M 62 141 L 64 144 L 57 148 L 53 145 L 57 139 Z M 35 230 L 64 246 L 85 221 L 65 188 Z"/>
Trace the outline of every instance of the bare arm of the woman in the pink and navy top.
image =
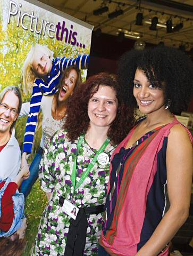
<path id="1" fill-rule="evenodd" d="M 192 143 L 181 125 L 172 127 L 166 150 L 167 191 L 170 208 L 136 256 L 156 256 L 189 215 L 192 182 Z"/>

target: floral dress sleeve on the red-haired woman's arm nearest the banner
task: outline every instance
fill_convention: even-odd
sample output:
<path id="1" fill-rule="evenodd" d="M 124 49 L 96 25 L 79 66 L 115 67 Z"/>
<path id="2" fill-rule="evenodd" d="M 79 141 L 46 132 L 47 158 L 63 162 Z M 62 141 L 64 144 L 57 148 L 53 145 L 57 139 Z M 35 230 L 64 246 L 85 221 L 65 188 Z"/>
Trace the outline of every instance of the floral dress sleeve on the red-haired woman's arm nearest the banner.
<path id="1" fill-rule="evenodd" d="M 39 179 L 41 183 L 41 189 L 47 193 L 53 192 L 56 181 L 55 161 L 57 155 L 57 140 L 58 135 L 56 134 L 48 142 L 39 166 Z"/>

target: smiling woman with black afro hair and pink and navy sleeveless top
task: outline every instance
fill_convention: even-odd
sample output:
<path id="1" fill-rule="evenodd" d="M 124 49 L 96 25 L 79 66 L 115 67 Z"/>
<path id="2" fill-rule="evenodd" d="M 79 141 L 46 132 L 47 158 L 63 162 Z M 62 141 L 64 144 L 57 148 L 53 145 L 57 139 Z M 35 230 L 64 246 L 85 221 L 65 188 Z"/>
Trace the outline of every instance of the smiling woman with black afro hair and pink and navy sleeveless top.
<path id="1" fill-rule="evenodd" d="M 166 256 L 189 214 L 192 137 L 173 113 L 187 109 L 193 63 L 170 47 L 130 51 L 118 78 L 129 113 L 146 115 L 115 149 L 98 255 Z"/>

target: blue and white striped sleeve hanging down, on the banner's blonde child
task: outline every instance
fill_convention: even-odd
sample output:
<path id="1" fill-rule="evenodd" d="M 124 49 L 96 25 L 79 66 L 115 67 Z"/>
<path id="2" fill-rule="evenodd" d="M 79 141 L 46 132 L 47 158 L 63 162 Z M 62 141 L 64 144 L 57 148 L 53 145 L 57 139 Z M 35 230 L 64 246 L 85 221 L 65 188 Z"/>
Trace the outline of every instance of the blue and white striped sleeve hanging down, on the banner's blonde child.
<path id="1" fill-rule="evenodd" d="M 34 134 L 38 122 L 38 113 L 41 105 L 41 99 L 43 96 L 40 86 L 37 84 L 37 80 L 41 80 L 42 82 L 42 79 L 36 79 L 35 83 L 33 84 L 33 92 L 30 100 L 30 112 L 26 123 L 26 132 L 24 134 L 23 142 L 23 152 L 26 153 L 31 153 L 32 150 Z"/>

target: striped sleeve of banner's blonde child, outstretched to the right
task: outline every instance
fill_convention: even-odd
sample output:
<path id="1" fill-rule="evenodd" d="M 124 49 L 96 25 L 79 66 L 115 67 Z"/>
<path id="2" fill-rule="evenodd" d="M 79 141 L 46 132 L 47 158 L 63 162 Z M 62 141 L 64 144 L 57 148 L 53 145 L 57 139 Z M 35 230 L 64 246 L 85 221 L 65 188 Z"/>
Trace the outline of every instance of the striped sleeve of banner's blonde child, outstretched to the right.
<path id="1" fill-rule="evenodd" d="M 65 68 L 69 66 L 77 66 L 79 69 L 87 69 L 89 63 L 89 55 L 88 54 L 81 54 L 78 55 L 77 58 L 68 59 L 63 57 L 60 59 L 60 70 L 64 71 Z"/>

